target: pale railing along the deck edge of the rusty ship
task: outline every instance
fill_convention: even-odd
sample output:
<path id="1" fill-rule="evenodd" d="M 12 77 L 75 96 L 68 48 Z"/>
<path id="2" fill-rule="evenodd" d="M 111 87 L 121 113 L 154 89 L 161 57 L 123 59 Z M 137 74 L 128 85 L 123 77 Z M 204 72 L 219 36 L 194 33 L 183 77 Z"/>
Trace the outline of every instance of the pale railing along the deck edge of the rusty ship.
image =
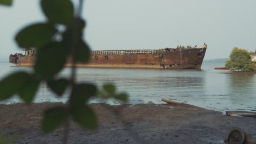
<path id="1" fill-rule="evenodd" d="M 102 50 L 91 51 L 90 55 L 140 55 L 140 54 L 157 54 L 158 50 Z"/>

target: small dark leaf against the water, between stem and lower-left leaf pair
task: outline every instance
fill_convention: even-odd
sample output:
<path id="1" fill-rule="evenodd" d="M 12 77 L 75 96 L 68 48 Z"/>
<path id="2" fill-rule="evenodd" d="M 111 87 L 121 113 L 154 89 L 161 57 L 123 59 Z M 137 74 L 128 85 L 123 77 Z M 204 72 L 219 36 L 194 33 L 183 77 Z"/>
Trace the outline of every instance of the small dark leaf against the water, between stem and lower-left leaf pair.
<path id="1" fill-rule="evenodd" d="M 57 95 L 61 96 L 68 86 L 69 81 L 67 79 L 49 80 L 47 85 L 50 87 L 51 91 L 55 92 Z"/>

